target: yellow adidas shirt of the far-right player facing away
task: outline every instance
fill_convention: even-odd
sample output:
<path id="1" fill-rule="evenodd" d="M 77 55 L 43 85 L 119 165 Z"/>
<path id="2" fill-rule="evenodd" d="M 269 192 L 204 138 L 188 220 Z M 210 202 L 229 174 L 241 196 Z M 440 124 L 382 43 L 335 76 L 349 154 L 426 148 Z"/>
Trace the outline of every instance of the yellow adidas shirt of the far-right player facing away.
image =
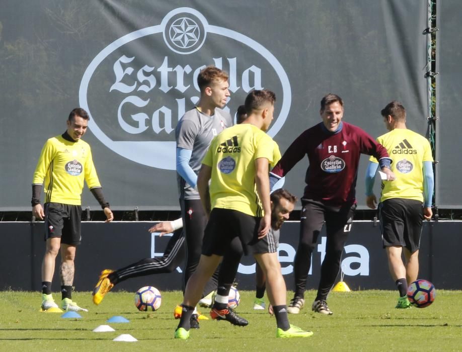
<path id="1" fill-rule="evenodd" d="M 377 138 L 392 158 L 395 181 L 382 182 L 380 201 L 405 198 L 423 202 L 423 162 L 433 161 L 430 143 L 408 129 L 396 128 Z M 372 162 L 377 159 L 370 157 Z"/>

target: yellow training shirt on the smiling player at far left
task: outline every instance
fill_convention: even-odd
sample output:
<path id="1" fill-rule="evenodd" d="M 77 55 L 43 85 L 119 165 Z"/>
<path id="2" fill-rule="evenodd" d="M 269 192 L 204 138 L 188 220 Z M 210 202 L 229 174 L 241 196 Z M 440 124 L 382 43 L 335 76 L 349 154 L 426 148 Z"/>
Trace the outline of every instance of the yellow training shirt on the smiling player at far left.
<path id="1" fill-rule="evenodd" d="M 46 141 L 35 168 L 33 185 L 45 179 L 45 202 L 81 205 L 84 180 L 90 189 L 101 187 L 90 145 L 70 142 L 62 136 Z"/>

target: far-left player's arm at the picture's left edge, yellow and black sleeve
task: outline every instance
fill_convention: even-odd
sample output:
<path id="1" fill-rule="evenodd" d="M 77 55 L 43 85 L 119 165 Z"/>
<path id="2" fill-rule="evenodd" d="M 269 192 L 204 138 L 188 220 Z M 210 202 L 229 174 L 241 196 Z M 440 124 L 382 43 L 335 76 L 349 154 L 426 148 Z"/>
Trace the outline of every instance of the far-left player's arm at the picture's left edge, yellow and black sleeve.
<path id="1" fill-rule="evenodd" d="M 32 178 L 32 216 L 36 219 L 42 220 L 45 217 L 43 207 L 40 204 L 40 193 L 42 192 L 43 180 L 50 163 L 53 160 L 55 148 L 51 139 L 47 140 L 40 152 L 40 157 L 35 167 L 34 177 Z"/>

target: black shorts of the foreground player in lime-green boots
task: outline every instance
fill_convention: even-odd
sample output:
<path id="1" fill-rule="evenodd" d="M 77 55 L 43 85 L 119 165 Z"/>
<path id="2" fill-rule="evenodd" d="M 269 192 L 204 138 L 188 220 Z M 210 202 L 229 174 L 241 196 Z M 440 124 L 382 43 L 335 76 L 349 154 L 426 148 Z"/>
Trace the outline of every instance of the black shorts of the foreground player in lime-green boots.
<path id="1" fill-rule="evenodd" d="M 205 227 L 202 254 L 223 256 L 231 241 L 238 237 L 244 254 L 253 253 L 258 239 L 259 217 L 232 209 L 213 208 Z"/>

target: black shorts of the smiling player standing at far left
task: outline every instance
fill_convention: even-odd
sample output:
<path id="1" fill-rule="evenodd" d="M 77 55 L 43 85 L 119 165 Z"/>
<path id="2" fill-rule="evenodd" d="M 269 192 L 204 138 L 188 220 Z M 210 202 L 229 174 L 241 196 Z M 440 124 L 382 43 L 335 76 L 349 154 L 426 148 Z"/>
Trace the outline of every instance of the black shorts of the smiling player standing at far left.
<path id="1" fill-rule="evenodd" d="M 61 237 L 61 243 L 80 244 L 82 207 L 61 203 L 45 203 L 45 240 Z"/>

